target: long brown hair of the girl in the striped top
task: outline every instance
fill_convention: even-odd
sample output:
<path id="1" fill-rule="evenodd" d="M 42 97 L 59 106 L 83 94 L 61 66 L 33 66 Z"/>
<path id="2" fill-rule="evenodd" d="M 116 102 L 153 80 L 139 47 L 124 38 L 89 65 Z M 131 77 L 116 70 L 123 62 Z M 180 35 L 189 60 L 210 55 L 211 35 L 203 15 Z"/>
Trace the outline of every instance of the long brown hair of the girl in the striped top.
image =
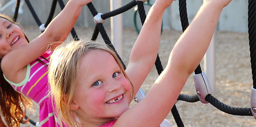
<path id="1" fill-rule="evenodd" d="M 14 22 L 10 17 L 4 14 L 0 14 L 0 17 L 21 27 L 18 23 Z M 26 35 L 25 38 L 27 42 L 29 42 Z M 42 58 L 46 60 L 46 58 Z M 0 64 L 1 60 L 2 59 L 0 58 Z M 40 59 L 37 59 L 37 61 L 46 65 L 46 63 Z M 29 119 L 23 120 L 23 118 L 26 114 L 26 106 L 32 105 L 31 99 L 14 90 L 14 88 L 4 79 L 2 69 L 0 69 L 0 79 L 0 126 L 6 126 L 5 124 L 7 124 L 7 126 L 20 126 L 20 123 L 28 123 Z M 4 118 L 5 121 L 3 121 L 2 118 Z"/>

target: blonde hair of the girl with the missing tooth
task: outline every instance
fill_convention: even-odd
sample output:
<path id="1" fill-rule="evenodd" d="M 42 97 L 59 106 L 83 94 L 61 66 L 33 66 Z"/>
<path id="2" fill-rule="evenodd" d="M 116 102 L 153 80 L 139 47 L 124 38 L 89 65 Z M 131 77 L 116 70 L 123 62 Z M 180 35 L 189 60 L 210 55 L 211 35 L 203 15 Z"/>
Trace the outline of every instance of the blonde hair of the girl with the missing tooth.
<path id="1" fill-rule="evenodd" d="M 130 82 L 133 94 L 133 85 L 125 73 L 120 60 L 115 52 L 105 43 L 87 39 L 64 42 L 53 52 L 48 67 L 51 96 L 54 99 L 53 102 L 55 102 L 55 114 L 57 115 L 60 124 L 62 121 L 69 126 L 83 126 L 78 119 L 76 119 L 78 118 L 76 111 L 70 109 L 70 104 L 74 99 L 74 93 L 76 91 L 81 58 L 91 50 L 107 51 L 115 58 L 123 75 Z M 132 94 L 130 94 L 130 101 L 132 100 Z M 64 96 L 65 103 L 63 103 Z"/>

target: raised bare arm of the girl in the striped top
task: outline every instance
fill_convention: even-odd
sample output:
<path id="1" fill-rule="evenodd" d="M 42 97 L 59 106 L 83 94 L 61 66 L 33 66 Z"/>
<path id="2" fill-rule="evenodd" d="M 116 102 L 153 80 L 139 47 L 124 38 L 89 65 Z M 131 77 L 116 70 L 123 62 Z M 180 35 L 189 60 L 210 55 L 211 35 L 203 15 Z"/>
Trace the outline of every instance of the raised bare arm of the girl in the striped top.
<path id="1" fill-rule="evenodd" d="M 3 72 L 15 76 L 27 64 L 40 57 L 52 42 L 63 40 L 78 18 L 81 7 L 92 0 L 70 0 L 64 9 L 50 22 L 46 30 L 27 45 L 8 52 L 2 59 Z M 7 77 L 8 78 L 8 77 Z"/>

